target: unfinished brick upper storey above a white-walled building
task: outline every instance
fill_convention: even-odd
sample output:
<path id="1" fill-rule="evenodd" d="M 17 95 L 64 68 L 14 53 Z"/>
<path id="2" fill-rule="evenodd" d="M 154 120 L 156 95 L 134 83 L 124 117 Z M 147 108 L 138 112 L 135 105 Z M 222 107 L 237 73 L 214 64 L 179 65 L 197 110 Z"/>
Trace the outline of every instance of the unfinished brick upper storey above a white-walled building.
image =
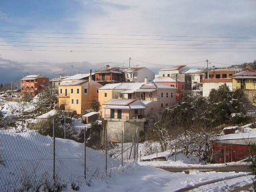
<path id="1" fill-rule="evenodd" d="M 209 79 L 205 76 L 202 80 L 203 97 L 208 97 L 212 89 L 218 89 L 219 86 L 225 83 L 231 91 L 233 90 L 232 75 L 236 73 L 236 70 L 216 69 L 208 73 Z"/>

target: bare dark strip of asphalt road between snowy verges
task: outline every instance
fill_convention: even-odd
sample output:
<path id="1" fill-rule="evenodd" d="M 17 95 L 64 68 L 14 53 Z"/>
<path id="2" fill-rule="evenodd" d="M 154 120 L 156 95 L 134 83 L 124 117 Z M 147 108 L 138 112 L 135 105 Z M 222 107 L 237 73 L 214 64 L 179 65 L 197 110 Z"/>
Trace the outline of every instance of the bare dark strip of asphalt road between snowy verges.
<path id="1" fill-rule="evenodd" d="M 234 171 L 236 173 L 238 172 L 252 172 L 250 169 L 249 165 L 226 165 L 223 167 L 203 167 L 203 168 L 198 168 L 198 167 L 189 167 L 189 168 L 179 168 L 179 167 L 157 167 L 161 168 L 166 171 L 170 172 L 185 172 L 186 174 L 189 174 L 190 170 L 199 170 L 201 172 L 209 172 L 209 171 L 216 171 L 216 172 L 231 172 Z"/>

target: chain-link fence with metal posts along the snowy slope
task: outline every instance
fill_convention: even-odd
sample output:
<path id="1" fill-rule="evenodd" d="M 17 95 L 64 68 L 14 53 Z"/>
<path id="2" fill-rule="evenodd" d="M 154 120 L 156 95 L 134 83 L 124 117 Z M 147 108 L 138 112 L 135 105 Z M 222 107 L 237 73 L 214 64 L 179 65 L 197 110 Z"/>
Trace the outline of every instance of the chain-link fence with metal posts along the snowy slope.
<path id="1" fill-rule="evenodd" d="M 106 139 L 108 140 L 108 139 Z M 138 142 L 120 144 L 114 155 L 73 140 L 42 136 L 34 130 L 0 130 L 0 191 L 37 190 L 57 182 L 89 182 L 109 175 L 122 160 L 138 158 Z M 124 150 L 123 150 L 124 149 Z M 136 155 L 137 153 L 137 155 Z M 124 155 L 125 154 L 125 155 Z M 112 158 L 111 158 L 111 157 Z"/>

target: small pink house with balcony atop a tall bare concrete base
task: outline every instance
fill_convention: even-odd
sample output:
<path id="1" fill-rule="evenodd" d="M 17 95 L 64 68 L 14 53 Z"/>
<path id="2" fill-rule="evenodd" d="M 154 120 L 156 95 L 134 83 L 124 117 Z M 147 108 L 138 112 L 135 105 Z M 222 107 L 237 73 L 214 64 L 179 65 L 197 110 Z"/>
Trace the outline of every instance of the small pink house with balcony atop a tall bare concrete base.
<path id="1" fill-rule="evenodd" d="M 137 99 L 112 99 L 103 104 L 102 130 L 107 130 L 110 140 L 120 142 L 122 132 L 124 142 L 132 142 L 140 131 L 144 131 L 144 110 L 146 109 Z"/>

